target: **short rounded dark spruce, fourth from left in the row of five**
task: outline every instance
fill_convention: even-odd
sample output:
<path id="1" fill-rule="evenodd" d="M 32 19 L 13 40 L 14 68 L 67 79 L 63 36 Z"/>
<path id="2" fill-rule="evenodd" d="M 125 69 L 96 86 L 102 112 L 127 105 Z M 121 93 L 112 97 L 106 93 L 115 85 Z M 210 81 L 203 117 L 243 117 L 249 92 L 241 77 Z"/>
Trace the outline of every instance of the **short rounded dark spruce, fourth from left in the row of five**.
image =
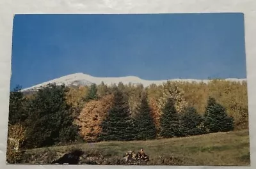
<path id="1" fill-rule="evenodd" d="M 180 125 L 183 136 L 201 135 L 204 133 L 203 117 L 194 107 L 188 107 L 180 115 Z"/>

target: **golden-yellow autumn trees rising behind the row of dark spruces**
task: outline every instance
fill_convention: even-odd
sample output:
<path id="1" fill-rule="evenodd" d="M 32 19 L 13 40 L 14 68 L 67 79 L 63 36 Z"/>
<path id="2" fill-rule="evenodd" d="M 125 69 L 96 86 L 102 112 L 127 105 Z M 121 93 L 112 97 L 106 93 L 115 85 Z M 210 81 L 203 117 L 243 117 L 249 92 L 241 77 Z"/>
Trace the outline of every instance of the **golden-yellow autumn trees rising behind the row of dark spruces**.
<path id="1" fill-rule="evenodd" d="M 175 101 L 175 108 L 178 113 L 184 107 L 196 108 L 198 114 L 204 115 L 205 108 L 209 97 L 216 99 L 226 108 L 227 114 L 234 117 L 234 128 L 248 128 L 248 95 L 247 83 L 230 82 L 225 80 L 211 80 L 208 84 L 196 82 L 166 82 L 163 85 L 123 85 L 118 84 L 118 87 L 127 95 L 129 107 L 131 108 L 132 116 L 140 103 L 141 91 L 145 90 L 148 95 L 148 103 L 152 109 L 154 121 L 157 128 L 161 117 L 166 98 L 172 97 Z M 84 108 L 83 98 L 89 92 L 90 87 L 71 87 L 67 93 L 67 101 L 72 107 Z M 104 83 L 97 85 L 97 102 L 102 102 L 102 98 L 111 93 L 111 87 Z M 104 99 L 103 99 L 104 102 Z M 93 105 L 88 103 L 87 105 Z M 103 103 L 106 105 L 106 103 Z M 90 109 L 90 108 L 89 108 Z M 87 111 L 87 110 L 84 110 Z"/>

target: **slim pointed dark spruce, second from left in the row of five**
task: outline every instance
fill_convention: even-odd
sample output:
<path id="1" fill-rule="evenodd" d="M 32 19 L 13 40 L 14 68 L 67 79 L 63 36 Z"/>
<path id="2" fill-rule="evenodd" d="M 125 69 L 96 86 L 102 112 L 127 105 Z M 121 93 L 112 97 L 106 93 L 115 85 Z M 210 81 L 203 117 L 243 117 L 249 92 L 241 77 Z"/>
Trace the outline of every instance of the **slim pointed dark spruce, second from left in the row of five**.
<path id="1" fill-rule="evenodd" d="M 140 107 L 136 115 L 136 126 L 138 128 L 138 140 L 148 140 L 156 138 L 156 126 L 152 117 L 151 109 L 148 105 L 146 92 L 142 93 Z"/>

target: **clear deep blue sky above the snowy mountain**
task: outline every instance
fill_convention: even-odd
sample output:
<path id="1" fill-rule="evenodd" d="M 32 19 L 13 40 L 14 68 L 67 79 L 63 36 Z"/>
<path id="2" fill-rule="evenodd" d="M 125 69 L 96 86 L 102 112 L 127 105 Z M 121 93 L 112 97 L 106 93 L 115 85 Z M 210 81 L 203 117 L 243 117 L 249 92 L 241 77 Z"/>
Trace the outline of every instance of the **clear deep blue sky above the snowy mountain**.
<path id="1" fill-rule="evenodd" d="M 15 15 L 11 89 L 79 72 L 246 78 L 243 13 Z"/>

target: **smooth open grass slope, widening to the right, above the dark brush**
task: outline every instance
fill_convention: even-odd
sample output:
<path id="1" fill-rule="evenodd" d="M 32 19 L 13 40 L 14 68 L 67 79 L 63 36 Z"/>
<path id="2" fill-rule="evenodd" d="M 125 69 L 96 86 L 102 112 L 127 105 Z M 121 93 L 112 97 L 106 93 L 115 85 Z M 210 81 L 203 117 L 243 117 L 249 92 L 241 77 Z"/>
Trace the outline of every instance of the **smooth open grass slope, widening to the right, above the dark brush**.
<path id="1" fill-rule="evenodd" d="M 50 149 L 65 152 L 71 147 L 79 147 L 85 152 L 100 151 L 118 158 L 129 150 L 139 151 L 143 147 L 150 159 L 173 156 L 182 159 L 184 165 L 250 165 L 248 130 L 161 140 L 83 143 Z M 42 151 L 45 149 L 27 152 L 37 154 Z"/>

